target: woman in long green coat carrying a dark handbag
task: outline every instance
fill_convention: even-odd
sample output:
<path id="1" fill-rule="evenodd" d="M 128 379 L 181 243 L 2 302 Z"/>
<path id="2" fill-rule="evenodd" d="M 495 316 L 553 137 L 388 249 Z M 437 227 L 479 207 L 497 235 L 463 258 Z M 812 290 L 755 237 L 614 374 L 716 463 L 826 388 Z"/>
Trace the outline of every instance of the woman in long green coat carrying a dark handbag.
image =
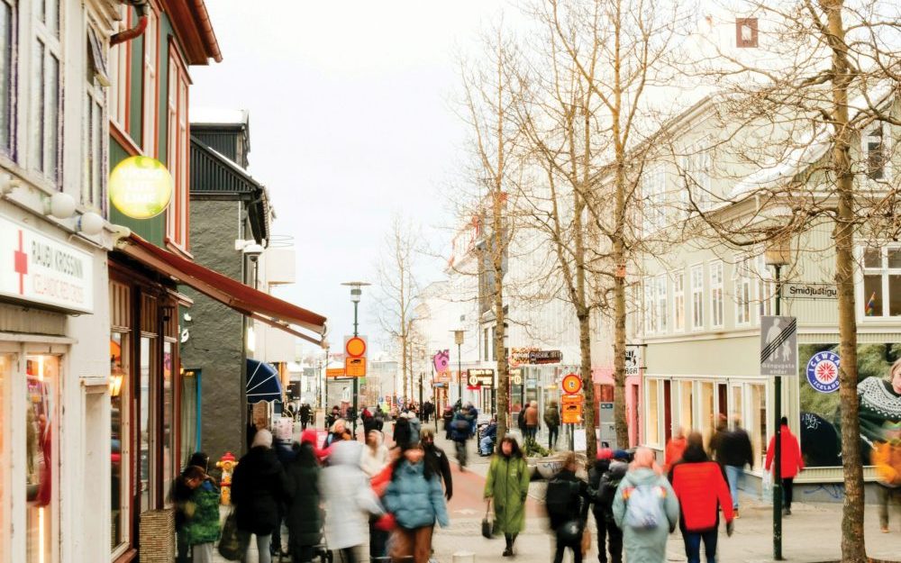
<path id="1" fill-rule="evenodd" d="M 516 535 L 525 528 L 525 497 L 529 495 L 529 468 L 519 444 L 510 436 L 501 440 L 500 453 L 491 459 L 485 498 L 495 504 L 495 533 L 506 540 L 504 557 L 513 555 Z"/>

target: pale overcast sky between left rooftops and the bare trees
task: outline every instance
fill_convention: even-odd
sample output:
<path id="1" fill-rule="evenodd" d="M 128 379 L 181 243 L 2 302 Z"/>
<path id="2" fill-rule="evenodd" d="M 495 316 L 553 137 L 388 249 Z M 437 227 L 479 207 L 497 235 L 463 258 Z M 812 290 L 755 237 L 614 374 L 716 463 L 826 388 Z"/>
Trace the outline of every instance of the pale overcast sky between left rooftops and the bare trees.
<path id="1" fill-rule="evenodd" d="M 296 245 L 296 286 L 278 295 L 327 316 L 329 340 L 341 342 L 353 309 L 340 284 L 375 281 L 392 213 L 426 230 L 451 224 L 440 191 L 459 176 L 467 135 L 450 102 L 458 53 L 505 3 L 206 5 L 223 62 L 191 68 L 191 106 L 249 112 L 250 173 L 268 186 L 273 232 Z M 374 340 L 373 293 L 360 303 L 360 332 Z"/>

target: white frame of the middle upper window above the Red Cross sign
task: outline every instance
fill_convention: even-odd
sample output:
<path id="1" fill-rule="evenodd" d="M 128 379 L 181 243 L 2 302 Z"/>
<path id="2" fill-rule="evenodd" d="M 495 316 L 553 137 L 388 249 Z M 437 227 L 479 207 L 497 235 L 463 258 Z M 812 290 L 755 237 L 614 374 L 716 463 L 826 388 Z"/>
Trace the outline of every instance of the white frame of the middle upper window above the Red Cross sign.
<path id="1" fill-rule="evenodd" d="M 46 0 L 41 0 L 41 5 Z M 62 123 L 63 123 L 63 77 L 65 69 L 63 65 L 63 48 L 61 34 L 65 27 L 65 13 L 63 10 L 62 0 L 49 0 L 50 5 L 55 5 L 58 9 L 57 13 L 57 32 L 48 27 L 47 22 L 41 22 L 41 12 L 37 9 L 35 3 L 32 20 L 32 36 L 27 37 L 28 49 L 31 51 L 31 65 L 28 71 L 31 77 L 32 89 L 28 95 L 30 104 L 28 122 L 34 126 L 27 128 L 31 131 L 28 137 L 28 155 L 27 166 L 41 174 L 42 177 L 50 181 L 53 186 L 62 186 Z M 43 8 L 41 8 L 43 9 Z M 39 55 L 38 45 L 43 48 L 42 56 Z M 56 121 L 48 118 L 51 111 L 50 99 L 53 94 L 53 86 L 47 80 L 48 69 L 51 68 L 53 60 L 57 63 L 57 80 L 56 86 Z M 36 80 L 35 77 L 41 77 Z M 38 124 L 41 126 L 38 126 Z M 33 135 L 40 133 L 40 140 L 34 139 Z M 51 138 L 55 133 L 56 144 L 53 144 Z M 49 162 L 53 159 L 52 164 Z"/>

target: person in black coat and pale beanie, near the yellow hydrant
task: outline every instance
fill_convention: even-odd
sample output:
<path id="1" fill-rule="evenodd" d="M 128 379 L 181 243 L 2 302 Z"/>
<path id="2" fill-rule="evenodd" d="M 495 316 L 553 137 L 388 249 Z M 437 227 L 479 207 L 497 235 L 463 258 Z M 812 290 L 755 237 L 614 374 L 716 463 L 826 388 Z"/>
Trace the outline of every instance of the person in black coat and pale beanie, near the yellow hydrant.
<path id="1" fill-rule="evenodd" d="M 241 545 L 257 537 L 259 563 L 271 563 L 272 531 L 280 525 L 278 502 L 285 495 L 285 471 L 272 449 L 272 432 L 262 429 L 253 437 L 250 451 L 241 457 L 232 475 L 232 504 Z M 246 557 L 246 552 L 245 552 Z"/>

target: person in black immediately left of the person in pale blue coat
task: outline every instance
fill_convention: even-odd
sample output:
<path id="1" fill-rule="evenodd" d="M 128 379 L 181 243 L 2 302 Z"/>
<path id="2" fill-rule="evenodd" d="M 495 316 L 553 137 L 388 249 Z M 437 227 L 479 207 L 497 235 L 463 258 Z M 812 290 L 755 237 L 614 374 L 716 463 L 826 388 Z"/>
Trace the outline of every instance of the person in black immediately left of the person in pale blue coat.
<path id="1" fill-rule="evenodd" d="M 588 496 L 594 504 L 600 563 L 606 563 L 608 552 L 612 563 L 623 563 L 623 531 L 614 521 L 614 498 L 628 470 L 629 454 L 625 450 L 605 448 L 598 451 L 595 466 L 588 472 Z"/>

